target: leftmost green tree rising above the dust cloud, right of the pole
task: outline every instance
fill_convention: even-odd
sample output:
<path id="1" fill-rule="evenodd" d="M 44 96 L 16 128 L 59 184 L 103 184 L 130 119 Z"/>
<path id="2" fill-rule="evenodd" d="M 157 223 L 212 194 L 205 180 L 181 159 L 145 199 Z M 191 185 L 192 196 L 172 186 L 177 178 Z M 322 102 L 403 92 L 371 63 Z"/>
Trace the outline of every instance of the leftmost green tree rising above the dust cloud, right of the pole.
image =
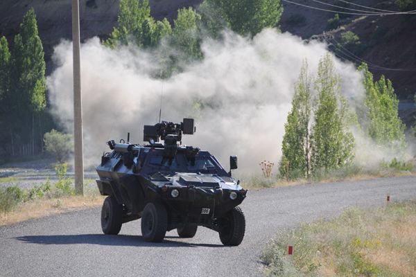
<path id="1" fill-rule="evenodd" d="M 156 46 L 162 37 L 171 34 L 167 19 L 155 21 L 150 15 L 148 0 L 120 0 L 118 23 L 119 26 L 104 42 L 111 48 L 130 42 L 139 47 Z"/>

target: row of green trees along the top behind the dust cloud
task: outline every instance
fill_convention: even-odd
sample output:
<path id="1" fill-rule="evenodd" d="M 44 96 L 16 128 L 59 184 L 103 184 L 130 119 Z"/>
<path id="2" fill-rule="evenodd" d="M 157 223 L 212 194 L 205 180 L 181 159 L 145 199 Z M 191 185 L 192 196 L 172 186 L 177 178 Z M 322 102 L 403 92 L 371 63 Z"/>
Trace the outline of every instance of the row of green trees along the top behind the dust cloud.
<path id="1" fill-rule="evenodd" d="M 181 8 L 171 25 L 150 15 L 148 0 L 121 0 L 118 26 L 103 42 L 110 48 L 135 45 L 157 51 L 157 78 L 168 78 L 186 64 L 202 60 L 203 37 L 220 39 L 225 28 L 254 36 L 263 28 L 278 28 L 283 12 L 279 0 L 205 0 L 198 10 Z"/>

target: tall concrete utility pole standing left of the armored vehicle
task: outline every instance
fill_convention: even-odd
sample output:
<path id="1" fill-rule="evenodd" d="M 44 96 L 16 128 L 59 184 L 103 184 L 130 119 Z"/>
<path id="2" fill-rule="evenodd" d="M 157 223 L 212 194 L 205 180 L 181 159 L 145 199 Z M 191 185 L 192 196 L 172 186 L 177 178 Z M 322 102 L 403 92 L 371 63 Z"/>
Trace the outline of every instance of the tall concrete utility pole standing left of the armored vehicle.
<path id="1" fill-rule="evenodd" d="M 84 154 L 83 154 L 83 109 L 81 100 L 80 64 L 80 3 L 72 0 L 72 43 L 73 43 L 73 141 L 75 191 L 84 195 Z"/>

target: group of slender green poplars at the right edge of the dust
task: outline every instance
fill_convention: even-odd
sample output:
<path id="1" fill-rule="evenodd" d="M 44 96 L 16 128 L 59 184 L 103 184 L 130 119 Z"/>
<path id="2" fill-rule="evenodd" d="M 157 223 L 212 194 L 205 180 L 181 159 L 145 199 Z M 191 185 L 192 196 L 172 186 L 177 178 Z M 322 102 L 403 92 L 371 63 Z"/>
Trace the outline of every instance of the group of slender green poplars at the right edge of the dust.
<path id="1" fill-rule="evenodd" d="M 383 75 L 374 81 L 365 63 L 358 70 L 363 73 L 365 102 L 351 109 L 340 93 L 340 78 L 331 56 L 320 60 L 314 82 L 304 62 L 285 124 L 281 177 L 309 178 L 351 166 L 355 155 L 353 129 L 370 138 L 374 148 L 394 150 L 397 158 L 404 153 L 406 127 L 399 118 L 399 100 L 392 82 Z"/>

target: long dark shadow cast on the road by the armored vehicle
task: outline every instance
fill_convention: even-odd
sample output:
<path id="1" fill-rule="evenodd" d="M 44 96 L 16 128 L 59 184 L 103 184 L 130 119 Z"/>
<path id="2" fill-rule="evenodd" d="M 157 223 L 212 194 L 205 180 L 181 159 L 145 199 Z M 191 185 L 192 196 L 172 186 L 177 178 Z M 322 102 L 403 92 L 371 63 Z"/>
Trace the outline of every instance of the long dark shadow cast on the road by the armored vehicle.
<path id="1" fill-rule="evenodd" d="M 15 238 L 21 242 L 31 244 L 98 244 L 130 247 L 224 247 L 223 244 L 200 244 L 192 242 L 178 242 L 168 240 L 166 237 L 162 242 L 146 242 L 141 235 L 103 235 L 103 234 L 80 234 L 80 235 L 24 235 Z"/>

